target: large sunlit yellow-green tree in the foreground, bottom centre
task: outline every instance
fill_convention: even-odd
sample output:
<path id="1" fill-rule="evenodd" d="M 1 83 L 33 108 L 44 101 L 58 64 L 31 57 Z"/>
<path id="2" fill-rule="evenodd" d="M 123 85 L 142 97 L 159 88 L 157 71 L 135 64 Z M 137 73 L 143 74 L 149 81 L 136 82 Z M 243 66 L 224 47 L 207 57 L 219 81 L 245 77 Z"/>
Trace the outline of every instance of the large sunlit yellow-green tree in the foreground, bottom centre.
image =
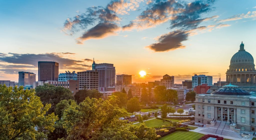
<path id="1" fill-rule="evenodd" d="M 154 140 L 155 130 L 144 124 L 135 126 L 118 117 L 127 112 L 108 100 L 87 97 L 75 107 L 70 106 L 63 114 L 63 127 L 67 129 L 67 140 L 71 139 L 128 139 Z M 135 133 L 136 132 L 136 133 Z M 151 138 L 152 137 L 152 138 Z M 146 139 L 145 139 L 146 140 Z"/>

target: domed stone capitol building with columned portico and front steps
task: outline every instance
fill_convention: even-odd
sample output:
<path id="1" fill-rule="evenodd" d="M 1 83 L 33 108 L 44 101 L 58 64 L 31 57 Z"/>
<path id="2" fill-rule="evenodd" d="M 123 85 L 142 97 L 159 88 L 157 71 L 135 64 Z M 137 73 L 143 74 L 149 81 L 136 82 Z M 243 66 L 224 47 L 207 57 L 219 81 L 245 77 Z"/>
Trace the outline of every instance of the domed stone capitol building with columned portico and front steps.
<path id="1" fill-rule="evenodd" d="M 256 131 L 256 70 L 241 43 L 230 60 L 227 84 L 211 94 L 196 95 L 195 125 L 201 131 L 240 139 Z"/>

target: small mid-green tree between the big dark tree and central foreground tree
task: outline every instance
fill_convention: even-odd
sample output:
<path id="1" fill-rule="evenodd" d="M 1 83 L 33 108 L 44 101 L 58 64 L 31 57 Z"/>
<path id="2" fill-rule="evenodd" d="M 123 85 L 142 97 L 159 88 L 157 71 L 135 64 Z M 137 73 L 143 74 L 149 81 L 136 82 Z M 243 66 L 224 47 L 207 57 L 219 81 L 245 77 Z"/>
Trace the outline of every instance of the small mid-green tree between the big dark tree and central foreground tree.
<path id="1" fill-rule="evenodd" d="M 75 106 L 77 105 L 76 101 L 74 100 L 61 100 L 55 108 L 55 113 L 58 115 L 59 118 L 62 117 L 64 110 L 68 109 L 69 106 Z"/>

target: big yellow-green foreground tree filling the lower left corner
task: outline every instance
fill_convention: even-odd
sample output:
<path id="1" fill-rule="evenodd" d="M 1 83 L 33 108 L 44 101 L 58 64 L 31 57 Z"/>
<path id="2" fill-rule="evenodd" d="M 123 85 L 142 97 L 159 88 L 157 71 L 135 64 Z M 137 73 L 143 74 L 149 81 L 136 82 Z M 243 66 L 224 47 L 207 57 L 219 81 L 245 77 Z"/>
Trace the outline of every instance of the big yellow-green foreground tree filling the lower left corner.
<path id="1" fill-rule="evenodd" d="M 54 113 L 46 115 L 50 107 L 33 89 L 0 85 L 0 139 L 46 139 L 58 120 Z"/>

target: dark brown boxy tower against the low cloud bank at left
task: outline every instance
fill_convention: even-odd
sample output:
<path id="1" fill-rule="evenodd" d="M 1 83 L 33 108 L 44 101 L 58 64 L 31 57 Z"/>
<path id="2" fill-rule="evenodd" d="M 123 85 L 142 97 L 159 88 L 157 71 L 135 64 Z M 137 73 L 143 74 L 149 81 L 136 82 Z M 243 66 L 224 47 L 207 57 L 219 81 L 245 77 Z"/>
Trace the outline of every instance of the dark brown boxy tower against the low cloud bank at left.
<path id="1" fill-rule="evenodd" d="M 38 61 L 38 81 L 58 81 L 59 63 Z"/>

